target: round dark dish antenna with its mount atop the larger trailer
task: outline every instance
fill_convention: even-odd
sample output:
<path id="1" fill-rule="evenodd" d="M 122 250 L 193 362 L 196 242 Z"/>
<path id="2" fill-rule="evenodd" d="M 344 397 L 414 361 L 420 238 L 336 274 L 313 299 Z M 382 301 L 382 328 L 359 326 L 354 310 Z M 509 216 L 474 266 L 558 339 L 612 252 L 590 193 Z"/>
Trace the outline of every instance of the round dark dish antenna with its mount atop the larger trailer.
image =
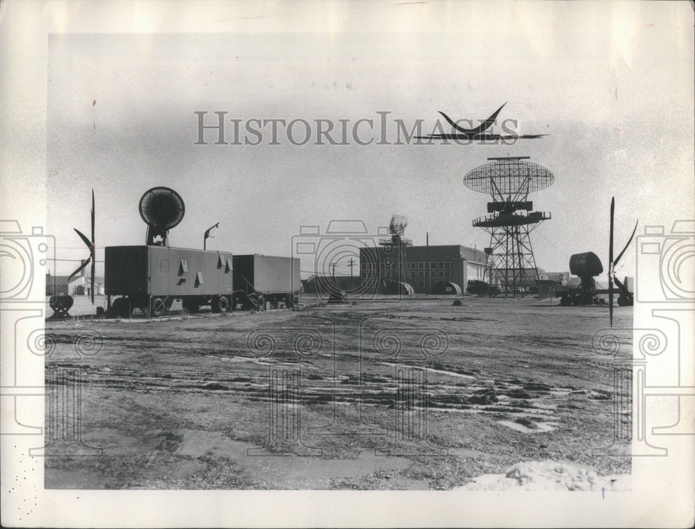
<path id="1" fill-rule="evenodd" d="M 147 244 L 166 246 L 171 228 L 183 220 L 186 206 L 181 195 L 169 187 L 152 187 L 140 199 L 140 217 L 147 224 Z"/>

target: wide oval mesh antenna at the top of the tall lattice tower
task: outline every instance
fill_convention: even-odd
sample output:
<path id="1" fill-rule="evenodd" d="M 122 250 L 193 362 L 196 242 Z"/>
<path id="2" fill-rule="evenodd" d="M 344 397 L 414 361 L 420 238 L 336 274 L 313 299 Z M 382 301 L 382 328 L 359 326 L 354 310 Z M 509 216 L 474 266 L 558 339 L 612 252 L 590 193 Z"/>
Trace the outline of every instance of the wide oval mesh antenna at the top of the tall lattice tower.
<path id="1" fill-rule="evenodd" d="M 545 167 L 520 158 L 495 160 L 468 171 L 464 185 L 468 189 L 491 195 L 531 193 L 553 184 L 555 175 Z"/>

